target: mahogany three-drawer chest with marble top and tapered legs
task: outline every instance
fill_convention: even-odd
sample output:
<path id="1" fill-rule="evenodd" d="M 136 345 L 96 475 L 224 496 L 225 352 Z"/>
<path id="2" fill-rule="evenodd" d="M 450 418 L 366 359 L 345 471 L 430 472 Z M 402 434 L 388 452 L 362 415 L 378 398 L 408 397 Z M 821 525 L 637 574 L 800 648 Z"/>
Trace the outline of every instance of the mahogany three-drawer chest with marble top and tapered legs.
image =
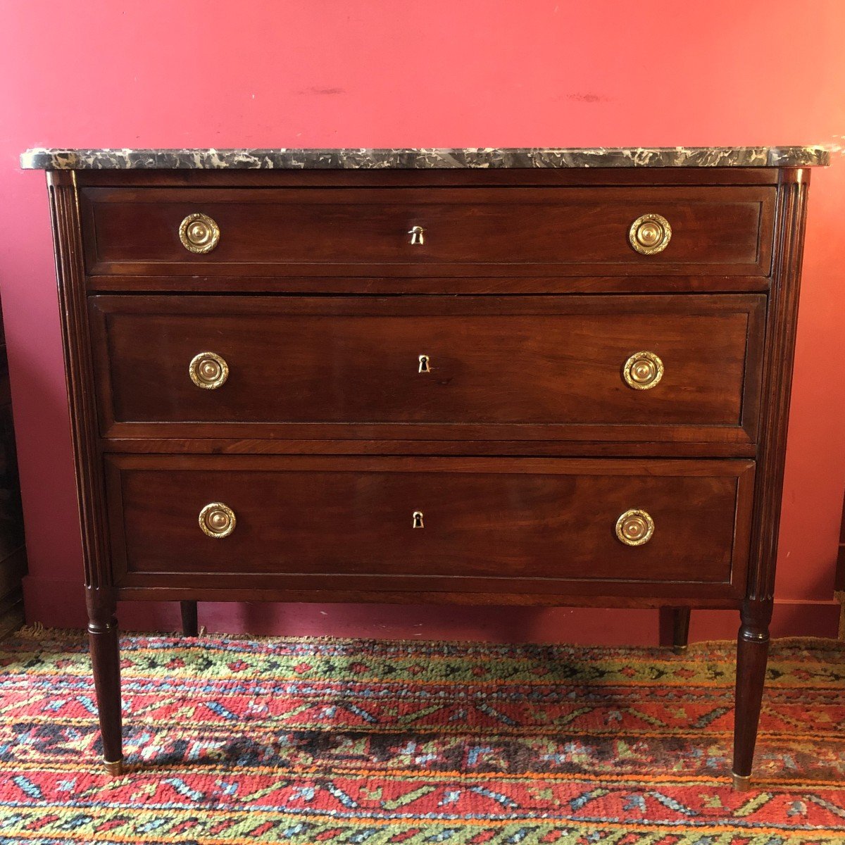
<path id="1" fill-rule="evenodd" d="M 741 613 L 747 786 L 823 163 L 26 155 L 49 171 L 110 771 L 117 599 L 711 607 Z"/>

